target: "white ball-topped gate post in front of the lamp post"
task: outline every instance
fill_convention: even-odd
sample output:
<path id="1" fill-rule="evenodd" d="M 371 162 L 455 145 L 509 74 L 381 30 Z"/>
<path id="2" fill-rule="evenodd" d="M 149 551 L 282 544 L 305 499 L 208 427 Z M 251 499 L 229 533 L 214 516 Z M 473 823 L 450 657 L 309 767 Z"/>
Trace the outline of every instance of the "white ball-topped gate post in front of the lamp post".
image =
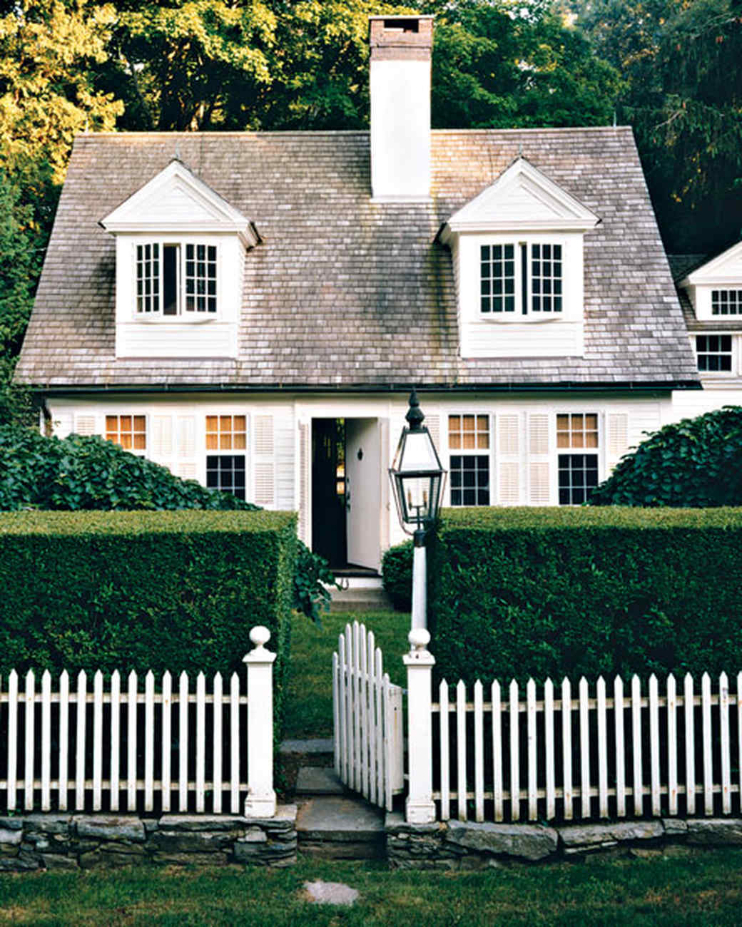
<path id="1" fill-rule="evenodd" d="M 405 818 L 411 824 L 435 820 L 433 802 L 433 718 L 431 713 L 432 667 L 429 631 L 414 628 L 407 636 L 410 653 L 404 654 L 407 667 L 407 764 L 408 793 Z"/>

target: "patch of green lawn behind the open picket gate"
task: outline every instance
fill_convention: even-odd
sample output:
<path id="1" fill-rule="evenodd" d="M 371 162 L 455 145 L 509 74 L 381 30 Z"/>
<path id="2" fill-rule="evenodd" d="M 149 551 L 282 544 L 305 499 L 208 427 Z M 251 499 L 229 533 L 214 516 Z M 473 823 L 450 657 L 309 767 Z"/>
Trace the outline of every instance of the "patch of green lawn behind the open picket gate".
<path id="1" fill-rule="evenodd" d="M 329 737 L 332 734 L 332 654 L 338 635 L 354 618 L 372 630 L 384 654 L 384 669 L 392 682 L 404 683 L 402 656 L 409 649 L 410 616 L 405 612 L 364 612 L 324 615 L 318 628 L 294 614 L 291 667 L 286 700 L 284 737 Z"/>

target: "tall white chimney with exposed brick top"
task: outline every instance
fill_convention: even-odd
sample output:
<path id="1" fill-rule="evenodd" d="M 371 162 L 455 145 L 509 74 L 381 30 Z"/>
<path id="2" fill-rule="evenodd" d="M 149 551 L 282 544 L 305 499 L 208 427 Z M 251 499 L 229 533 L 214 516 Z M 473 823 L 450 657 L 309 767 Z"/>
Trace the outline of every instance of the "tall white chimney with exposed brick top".
<path id="1" fill-rule="evenodd" d="M 404 202 L 430 197 L 431 16 L 372 16 L 371 193 Z"/>

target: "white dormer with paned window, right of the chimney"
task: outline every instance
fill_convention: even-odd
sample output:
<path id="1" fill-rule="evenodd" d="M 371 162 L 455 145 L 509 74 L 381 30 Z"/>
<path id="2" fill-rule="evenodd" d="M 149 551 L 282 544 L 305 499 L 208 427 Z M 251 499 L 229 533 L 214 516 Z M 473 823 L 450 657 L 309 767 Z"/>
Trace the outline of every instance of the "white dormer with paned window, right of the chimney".
<path id="1" fill-rule="evenodd" d="M 524 158 L 445 223 L 461 356 L 584 353 L 583 235 L 594 212 Z"/>

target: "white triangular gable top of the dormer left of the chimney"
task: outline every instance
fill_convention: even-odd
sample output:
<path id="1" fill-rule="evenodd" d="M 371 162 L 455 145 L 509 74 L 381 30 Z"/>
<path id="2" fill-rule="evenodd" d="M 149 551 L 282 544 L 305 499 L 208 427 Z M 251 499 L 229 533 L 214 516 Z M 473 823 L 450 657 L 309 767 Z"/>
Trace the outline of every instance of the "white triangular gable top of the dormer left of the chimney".
<path id="1" fill-rule="evenodd" d="M 100 224 L 107 232 L 227 232 L 239 235 L 246 248 L 260 241 L 254 224 L 224 197 L 199 180 L 178 158 Z"/>

